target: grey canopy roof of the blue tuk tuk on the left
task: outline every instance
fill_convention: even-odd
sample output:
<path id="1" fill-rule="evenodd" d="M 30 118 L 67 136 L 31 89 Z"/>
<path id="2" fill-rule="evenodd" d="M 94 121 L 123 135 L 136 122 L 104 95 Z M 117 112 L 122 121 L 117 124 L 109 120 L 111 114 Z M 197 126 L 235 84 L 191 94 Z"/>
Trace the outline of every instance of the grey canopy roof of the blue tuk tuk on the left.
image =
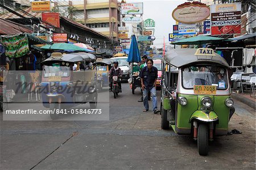
<path id="1" fill-rule="evenodd" d="M 79 62 L 79 61 L 94 61 L 96 60 L 96 56 L 94 56 L 91 53 L 85 53 L 85 52 L 74 52 L 74 53 L 67 53 L 63 54 L 63 57 L 55 58 L 49 57 L 48 59 L 44 60 L 43 63 L 49 62 L 49 61 L 66 61 L 66 62 Z"/>

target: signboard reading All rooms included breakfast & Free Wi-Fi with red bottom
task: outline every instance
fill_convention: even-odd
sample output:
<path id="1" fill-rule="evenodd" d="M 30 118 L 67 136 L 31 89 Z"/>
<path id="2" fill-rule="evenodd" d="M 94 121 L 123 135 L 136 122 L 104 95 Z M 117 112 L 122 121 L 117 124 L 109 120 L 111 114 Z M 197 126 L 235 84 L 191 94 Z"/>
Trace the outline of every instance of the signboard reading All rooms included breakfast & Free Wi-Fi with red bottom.
<path id="1" fill-rule="evenodd" d="M 212 35 L 241 33 L 241 2 L 211 5 L 210 14 Z"/>

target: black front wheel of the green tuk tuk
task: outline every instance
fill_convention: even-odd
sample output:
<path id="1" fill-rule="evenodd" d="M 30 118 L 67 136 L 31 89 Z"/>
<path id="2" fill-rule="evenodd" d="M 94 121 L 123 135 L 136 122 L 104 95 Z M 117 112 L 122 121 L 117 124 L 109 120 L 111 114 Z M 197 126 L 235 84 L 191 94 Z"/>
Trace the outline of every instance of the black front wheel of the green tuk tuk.
<path id="1" fill-rule="evenodd" d="M 208 155 L 208 145 L 209 145 L 209 129 L 208 125 L 201 123 L 198 127 L 197 132 L 197 148 L 199 155 L 206 156 Z"/>

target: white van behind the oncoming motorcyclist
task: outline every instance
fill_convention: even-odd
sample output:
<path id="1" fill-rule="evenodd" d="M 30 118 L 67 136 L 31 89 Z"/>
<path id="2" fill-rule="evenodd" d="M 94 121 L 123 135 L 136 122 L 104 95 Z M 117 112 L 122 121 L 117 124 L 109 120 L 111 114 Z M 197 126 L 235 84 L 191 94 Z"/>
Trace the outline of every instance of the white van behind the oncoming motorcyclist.
<path id="1" fill-rule="evenodd" d="M 129 63 L 127 62 L 128 57 L 112 57 L 110 60 L 118 61 L 118 67 L 123 71 L 122 80 L 128 80 L 130 78 L 129 75 Z"/>

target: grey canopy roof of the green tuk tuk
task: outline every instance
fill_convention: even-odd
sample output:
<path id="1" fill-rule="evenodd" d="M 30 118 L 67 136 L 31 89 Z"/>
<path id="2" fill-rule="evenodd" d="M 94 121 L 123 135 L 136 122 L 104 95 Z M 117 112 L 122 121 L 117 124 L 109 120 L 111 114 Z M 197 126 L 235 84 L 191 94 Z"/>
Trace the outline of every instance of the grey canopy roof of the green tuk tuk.
<path id="1" fill-rule="evenodd" d="M 226 60 L 215 52 L 213 52 L 212 56 L 202 54 L 195 55 L 196 52 L 197 49 L 195 48 L 171 49 L 170 51 L 166 52 L 164 60 L 166 60 L 168 64 L 177 68 L 193 63 L 216 63 L 224 65 L 225 67 L 229 67 L 228 63 L 226 63 Z"/>

